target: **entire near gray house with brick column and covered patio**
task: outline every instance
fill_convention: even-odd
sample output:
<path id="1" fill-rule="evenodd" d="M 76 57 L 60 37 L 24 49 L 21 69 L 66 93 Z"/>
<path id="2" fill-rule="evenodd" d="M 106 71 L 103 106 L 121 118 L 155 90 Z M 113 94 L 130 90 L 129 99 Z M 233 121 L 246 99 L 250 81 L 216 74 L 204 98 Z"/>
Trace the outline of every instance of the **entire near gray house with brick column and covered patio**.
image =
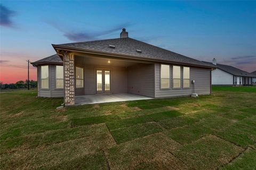
<path id="1" fill-rule="evenodd" d="M 129 93 L 151 98 L 211 93 L 214 66 L 128 37 L 52 45 L 57 54 L 33 62 L 38 96 Z M 194 80 L 195 84 L 191 81 Z"/>

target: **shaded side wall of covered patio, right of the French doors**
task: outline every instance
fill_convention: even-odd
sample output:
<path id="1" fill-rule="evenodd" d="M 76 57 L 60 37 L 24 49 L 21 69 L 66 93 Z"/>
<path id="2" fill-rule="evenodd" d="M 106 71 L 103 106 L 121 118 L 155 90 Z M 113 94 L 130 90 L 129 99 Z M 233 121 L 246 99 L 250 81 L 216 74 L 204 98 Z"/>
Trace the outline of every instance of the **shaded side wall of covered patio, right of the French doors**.
<path id="1" fill-rule="evenodd" d="M 128 92 L 155 97 L 155 65 L 137 64 L 128 68 Z"/>

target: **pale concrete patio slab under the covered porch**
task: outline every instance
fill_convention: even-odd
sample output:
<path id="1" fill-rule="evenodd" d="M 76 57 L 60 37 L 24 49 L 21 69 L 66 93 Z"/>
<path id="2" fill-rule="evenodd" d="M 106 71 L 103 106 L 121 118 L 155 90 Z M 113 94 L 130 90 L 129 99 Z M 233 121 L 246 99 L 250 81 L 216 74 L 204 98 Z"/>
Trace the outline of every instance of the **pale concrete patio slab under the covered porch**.
<path id="1" fill-rule="evenodd" d="M 75 105 L 107 103 L 115 101 L 129 101 L 129 100 L 145 100 L 153 99 L 151 97 L 134 95 L 134 94 L 96 94 L 96 95 L 83 95 L 75 96 Z"/>

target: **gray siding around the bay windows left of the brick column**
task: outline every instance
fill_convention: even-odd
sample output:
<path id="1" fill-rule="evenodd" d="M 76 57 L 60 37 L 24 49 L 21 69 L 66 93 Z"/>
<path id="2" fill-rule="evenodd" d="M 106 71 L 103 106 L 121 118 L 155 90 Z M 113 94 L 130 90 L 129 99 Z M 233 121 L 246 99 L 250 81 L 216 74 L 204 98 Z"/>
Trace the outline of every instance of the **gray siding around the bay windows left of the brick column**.
<path id="1" fill-rule="evenodd" d="M 63 97 L 64 90 L 56 88 L 56 65 L 49 65 L 49 89 L 41 88 L 41 66 L 37 67 L 38 97 Z"/>

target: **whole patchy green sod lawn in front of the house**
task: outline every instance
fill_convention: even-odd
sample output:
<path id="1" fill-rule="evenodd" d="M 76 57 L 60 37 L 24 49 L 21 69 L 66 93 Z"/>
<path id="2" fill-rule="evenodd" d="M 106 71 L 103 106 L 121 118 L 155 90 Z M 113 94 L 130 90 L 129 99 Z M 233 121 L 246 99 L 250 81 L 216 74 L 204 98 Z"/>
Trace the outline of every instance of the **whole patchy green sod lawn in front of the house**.
<path id="1" fill-rule="evenodd" d="M 256 87 L 55 109 L 1 93 L 0 169 L 256 169 Z"/>

